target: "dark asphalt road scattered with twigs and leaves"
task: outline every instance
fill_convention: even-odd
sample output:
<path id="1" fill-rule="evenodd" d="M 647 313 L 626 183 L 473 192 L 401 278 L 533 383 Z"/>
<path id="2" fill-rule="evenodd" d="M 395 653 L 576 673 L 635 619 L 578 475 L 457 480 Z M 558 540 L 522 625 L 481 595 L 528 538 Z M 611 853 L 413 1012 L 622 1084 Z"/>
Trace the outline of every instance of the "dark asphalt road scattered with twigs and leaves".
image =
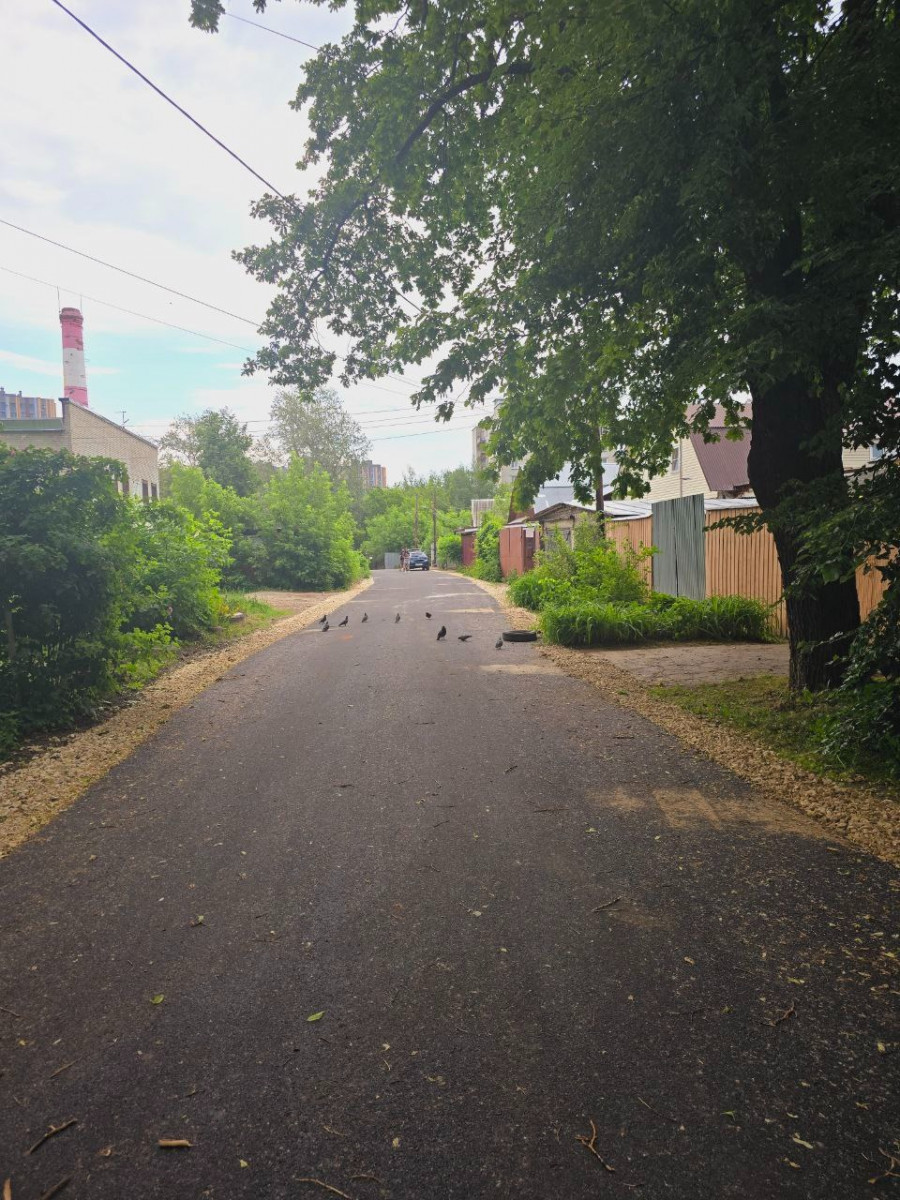
<path id="1" fill-rule="evenodd" d="M 13 1200 L 890 1193 L 896 872 L 463 578 L 344 612 L 0 862 Z"/>

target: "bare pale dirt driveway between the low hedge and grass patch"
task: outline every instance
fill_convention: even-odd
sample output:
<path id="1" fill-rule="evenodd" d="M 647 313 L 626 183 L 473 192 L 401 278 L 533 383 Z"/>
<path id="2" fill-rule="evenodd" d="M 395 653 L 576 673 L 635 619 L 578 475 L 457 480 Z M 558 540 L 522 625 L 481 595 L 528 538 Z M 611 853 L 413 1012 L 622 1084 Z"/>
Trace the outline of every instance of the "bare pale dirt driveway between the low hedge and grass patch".
<path id="1" fill-rule="evenodd" d="M 787 676 L 787 642 L 685 642 L 680 646 L 595 650 L 600 658 L 653 684 L 724 683 L 751 676 Z"/>

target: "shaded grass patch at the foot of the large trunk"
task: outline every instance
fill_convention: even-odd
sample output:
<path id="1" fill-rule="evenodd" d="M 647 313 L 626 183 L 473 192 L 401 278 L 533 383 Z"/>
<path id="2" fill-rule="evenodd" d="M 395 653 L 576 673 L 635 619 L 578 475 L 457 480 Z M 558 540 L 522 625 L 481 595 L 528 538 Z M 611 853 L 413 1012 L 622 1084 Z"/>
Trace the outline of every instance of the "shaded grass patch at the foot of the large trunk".
<path id="1" fill-rule="evenodd" d="M 863 779 L 888 786 L 900 799 L 900 786 L 892 781 L 882 762 L 872 756 L 852 772 L 829 761 L 817 744 L 821 724 L 829 712 L 829 697 L 793 697 L 781 676 L 756 676 L 728 683 L 706 683 L 691 688 L 658 686 L 652 694 L 668 700 L 716 725 L 732 726 L 763 743 L 782 758 L 828 779 Z"/>

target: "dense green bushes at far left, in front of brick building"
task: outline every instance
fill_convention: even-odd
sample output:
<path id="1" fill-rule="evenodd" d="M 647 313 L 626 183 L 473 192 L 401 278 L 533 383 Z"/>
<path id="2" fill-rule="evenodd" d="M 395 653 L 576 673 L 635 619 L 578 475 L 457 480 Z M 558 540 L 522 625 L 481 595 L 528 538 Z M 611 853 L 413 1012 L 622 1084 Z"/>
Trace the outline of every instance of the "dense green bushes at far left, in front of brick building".
<path id="1" fill-rule="evenodd" d="M 140 686 L 218 616 L 228 541 L 172 502 L 116 491 L 122 468 L 0 445 L 0 755 Z"/>

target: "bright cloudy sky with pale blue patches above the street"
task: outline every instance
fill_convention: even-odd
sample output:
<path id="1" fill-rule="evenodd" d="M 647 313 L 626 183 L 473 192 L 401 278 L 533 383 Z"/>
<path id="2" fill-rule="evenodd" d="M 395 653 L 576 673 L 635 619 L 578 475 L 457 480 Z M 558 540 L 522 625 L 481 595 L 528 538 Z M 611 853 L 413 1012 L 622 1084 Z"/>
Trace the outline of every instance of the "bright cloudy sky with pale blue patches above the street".
<path id="1" fill-rule="evenodd" d="M 190 0 L 65 2 L 280 191 L 302 197 L 314 184 L 295 166 L 306 119 L 288 107 L 313 52 L 289 37 L 336 41 L 347 11 L 283 0 L 260 16 L 251 0 L 226 0 L 220 32 L 208 35 L 188 24 Z M 230 257 L 269 239 L 269 226 L 250 215 L 263 185 L 53 0 L 0 0 L 0 222 L 228 313 L 0 223 L 0 386 L 62 395 L 58 314 L 72 305 L 84 314 L 91 408 L 158 438 L 175 416 L 228 407 L 263 434 L 272 389 L 241 366 L 260 344 L 271 292 Z M 449 428 L 436 425 L 410 408 L 415 373 L 409 379 L 337 384 L 389 482 L 407 467 L 427 473 L 472 460 L 480 413 L 461 409 Z"/>

